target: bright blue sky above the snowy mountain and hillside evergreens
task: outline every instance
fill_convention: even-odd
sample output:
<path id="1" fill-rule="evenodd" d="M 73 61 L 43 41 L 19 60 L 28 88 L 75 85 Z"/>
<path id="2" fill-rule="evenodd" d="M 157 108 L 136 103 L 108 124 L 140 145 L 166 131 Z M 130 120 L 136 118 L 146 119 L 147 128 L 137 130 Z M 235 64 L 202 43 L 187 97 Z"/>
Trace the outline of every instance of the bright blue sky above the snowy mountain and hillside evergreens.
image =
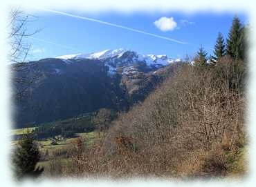
<path id="1" fill-rule="evenodd" d="M 37 21 L 28 24 L 28 32 L 43 28 L 33 35 L 35 39 L 26 39 L 28 43 L 32 44 L 30 60 L 115 48 L 135 50 L 142 55 L 154 54 L 183 58 L 186 54 L 192 57 L 201 45 L 210 54 L 218 32 L 222 32 L 223 36 L 227 37 L 234 16 L 229 13 L 209 12 L 197 14 L 181 12 L 85 14 L 69 11 L 67 13 L 125 26 L 184 43 L 46 11 L 34 13 L 37 16 Z M 238 16 L 242 23 L 247 23 L 245 15 L 238 14 Z"/>

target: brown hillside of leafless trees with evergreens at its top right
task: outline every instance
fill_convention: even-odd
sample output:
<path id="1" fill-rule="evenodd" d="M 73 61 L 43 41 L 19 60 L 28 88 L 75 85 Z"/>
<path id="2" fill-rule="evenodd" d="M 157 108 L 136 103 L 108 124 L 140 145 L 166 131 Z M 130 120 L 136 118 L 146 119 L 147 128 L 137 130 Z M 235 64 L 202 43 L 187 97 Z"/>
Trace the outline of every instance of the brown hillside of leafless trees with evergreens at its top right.
<path id="1" fill-rule="evenodd" d="M 212 57 L 200 48 L 194 66 L 182 63 L 143 104 L 119 115 L 104 139 L 58 170 L 72 176 L 243 175 L 245 30 L 235 17 Z"/>

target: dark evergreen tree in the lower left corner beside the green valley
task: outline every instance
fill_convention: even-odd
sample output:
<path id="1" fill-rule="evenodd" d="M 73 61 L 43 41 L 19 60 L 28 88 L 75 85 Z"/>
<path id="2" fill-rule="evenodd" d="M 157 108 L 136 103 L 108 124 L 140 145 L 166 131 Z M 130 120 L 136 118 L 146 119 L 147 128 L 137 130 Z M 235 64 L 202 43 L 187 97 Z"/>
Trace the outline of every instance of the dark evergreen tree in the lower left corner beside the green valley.
<path id="1" fill-rule="evenodd" d="M 27 131 L 24 137 L 19 140 L 12 156 L 17 179 L 38 177 L 44 171 L 44 168 L 36 167 L 39 159 L 39 149 L 34 142 L 33 134 Z"/>

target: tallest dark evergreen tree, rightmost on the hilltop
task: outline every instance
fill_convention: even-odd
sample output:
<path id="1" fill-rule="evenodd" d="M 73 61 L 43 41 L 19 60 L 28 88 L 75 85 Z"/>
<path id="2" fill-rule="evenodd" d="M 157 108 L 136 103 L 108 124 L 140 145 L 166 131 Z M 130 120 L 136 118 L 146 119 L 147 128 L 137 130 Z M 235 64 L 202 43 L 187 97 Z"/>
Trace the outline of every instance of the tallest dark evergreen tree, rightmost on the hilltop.
<path id="1" fill-rule="evenodd" d="M 235 61 L 244 59 L 244 26 L 234 17 L 227 39 L 227 54 Z"/>

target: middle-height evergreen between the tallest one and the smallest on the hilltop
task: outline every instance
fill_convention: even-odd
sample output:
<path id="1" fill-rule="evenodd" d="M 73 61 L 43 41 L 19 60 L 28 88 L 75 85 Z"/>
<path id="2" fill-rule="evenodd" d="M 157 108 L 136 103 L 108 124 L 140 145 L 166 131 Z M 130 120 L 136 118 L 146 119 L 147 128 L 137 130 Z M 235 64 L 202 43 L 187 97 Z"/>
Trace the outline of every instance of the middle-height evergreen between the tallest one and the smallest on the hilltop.
<path id="1" fill-rule="evenodd" d="M 216 63 L 216 61 L 219 61 L 219 59 L 225 55 L 225 52 L 226 51 L 225 51 L 224 39 L 221 32 L 219 32 L 216 44 L 214 46 L 214 52 L 213 52 L 214 56 L 211 57 L 212 63 Z"/>

